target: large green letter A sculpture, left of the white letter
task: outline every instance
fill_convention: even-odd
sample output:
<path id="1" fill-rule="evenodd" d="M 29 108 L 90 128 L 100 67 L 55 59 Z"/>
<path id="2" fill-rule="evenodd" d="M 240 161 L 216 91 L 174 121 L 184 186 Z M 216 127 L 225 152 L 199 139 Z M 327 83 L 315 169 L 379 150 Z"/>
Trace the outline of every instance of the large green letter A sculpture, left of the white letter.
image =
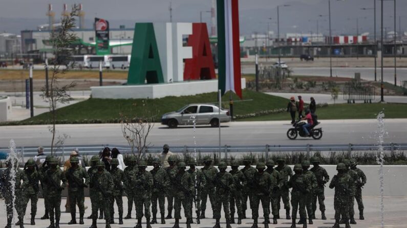
<path id="1" fill-rule="evenodd" d="M 136 23 L 127 84 L 163 83 L 153 23 Z"/>

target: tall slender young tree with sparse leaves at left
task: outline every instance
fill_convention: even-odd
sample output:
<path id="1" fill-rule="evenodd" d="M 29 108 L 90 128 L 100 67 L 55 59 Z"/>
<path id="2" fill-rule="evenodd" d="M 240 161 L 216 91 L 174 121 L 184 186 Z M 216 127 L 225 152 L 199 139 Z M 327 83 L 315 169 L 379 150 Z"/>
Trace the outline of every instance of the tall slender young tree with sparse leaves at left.
<path id="1" fill-rule="evenodd" d="M 75 28 L 74 17 L 78 15 L 78 10 L 78 6 L 72 6 L 72 11 L 69 16 L 61 18 L 61 27 L 59 29 L 51 31 L 50 33 L 50 43 L 52 44 L 54 49 L 54 59 L 50 61 L 50 88 L 48 94 L 46 93 L 45 88 L 43 88 L 41 97 L 49 103 L 52 124 L 49 127 L 49 131 L 52 134 L 52 155 L 58 147 L 57 144 L 63 144 L 63 140 L 61 139 L 67 138 L 64 134 L 62 137 L 58 136 L 58 140 L 57 142 L 55 142 L 57 108 L 59 104 L 66 104 L 71 100 L 71 96 L 68 94 L 68 91 L 75 87 L 75 83 L 70 83 L 68 85 L 59 85 L 58 79 L 60 74 L 68 72 L 74 67 L 75 64 L 72 58 L 73 48 L 71 44 L 78 39 L 76 34 L 72 31 L 73 28 Z M 65 67 L 61 67 L 61 65 L 64 65 Z"/>

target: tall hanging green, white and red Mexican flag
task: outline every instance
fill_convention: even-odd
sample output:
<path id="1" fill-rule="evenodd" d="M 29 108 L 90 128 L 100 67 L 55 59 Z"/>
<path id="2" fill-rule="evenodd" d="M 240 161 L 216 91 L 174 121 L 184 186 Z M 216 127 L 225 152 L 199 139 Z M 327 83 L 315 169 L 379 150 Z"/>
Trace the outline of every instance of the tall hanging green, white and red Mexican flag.
<path id="1" fill-rule="evenodd" d="M 218 88 L 242 98 L 239 43 L 239 0 L 217 0 L 218 11 Z"/>

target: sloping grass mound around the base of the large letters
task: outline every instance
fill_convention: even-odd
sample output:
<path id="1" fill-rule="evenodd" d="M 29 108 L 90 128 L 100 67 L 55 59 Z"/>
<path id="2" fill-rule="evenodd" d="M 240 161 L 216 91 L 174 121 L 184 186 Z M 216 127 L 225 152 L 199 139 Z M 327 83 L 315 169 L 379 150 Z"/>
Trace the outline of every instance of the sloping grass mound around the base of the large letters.
<path id="1" fill-rule="evenodd" d="M 229 108 L 229 94 L 222 97 L 223 107 Z M 234 114 L 248 114 L 263 110 L 273 110 L 286 107 L 288 100 L 282 97 L 272 96 L 265 93 L 249 90 L 243 91 L 243 99 L 233 96 Z M 160 121 L 161 115 L 166 112 L 176 111 L 183 106 L 191 103 L 214 103 L 217 104 L 217 93 L 205 93 L 195 96 L 164 97 L 157 99 L 96 99 L 90 98 L 74 105 L 63 107 L 57 110 L 58 120 L 67 120 L 67 122 L 77 122 L 83 119 L 99 119 L 102 122 L 108 122 L 112 119 L 120 118 L 122 113 L 128 117 L 141 116 L 145 109 L 152 113 L 157 113 L 156 121 Z M 144 105 L 143 105 L 144 104 Z M 28 121 L 48 122 L 50 113 L 40 114 Z"/>

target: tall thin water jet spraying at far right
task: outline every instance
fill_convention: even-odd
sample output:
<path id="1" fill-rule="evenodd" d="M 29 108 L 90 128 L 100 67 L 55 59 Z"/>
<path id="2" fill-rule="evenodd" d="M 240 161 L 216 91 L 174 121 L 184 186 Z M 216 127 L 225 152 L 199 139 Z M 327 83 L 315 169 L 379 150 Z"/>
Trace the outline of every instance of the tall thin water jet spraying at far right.
<path id="1" fill-rule="evenodd" d="M 387 134 L 384 130 L 384 113 L 379 112 L 377 115 L 377 128 L 378 131 L 378 150 L 379 155 L 376 157 L 376 162 L 380 165 L 379 168 L 379 180 L 380 180 L 380 213 L 381 213 L 381 227 L 384 228 L 384 203 L 383 203 L 383 192 L 384 192 L 384 172 L 383 172 L 383 163 L 384 163 L 384 150 L 383 142 L 384 136 Z"/>

